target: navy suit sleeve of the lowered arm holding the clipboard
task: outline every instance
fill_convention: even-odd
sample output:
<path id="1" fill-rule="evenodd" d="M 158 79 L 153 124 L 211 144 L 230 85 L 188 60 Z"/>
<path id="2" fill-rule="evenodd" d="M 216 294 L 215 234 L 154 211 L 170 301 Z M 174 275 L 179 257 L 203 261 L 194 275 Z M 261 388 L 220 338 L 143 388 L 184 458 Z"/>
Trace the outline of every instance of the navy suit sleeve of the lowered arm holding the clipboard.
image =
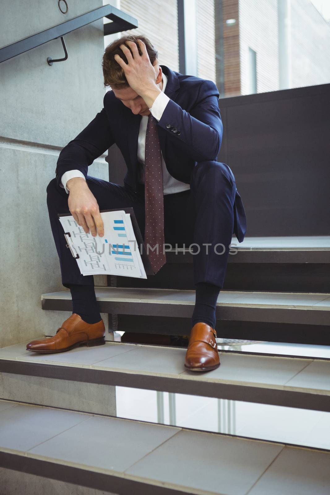
<path id="1" fill-rule="evenodd" d="M 114 144 L 109 119 L 104 108 L 106 95 L 104 95 L 102 110 L 78 136 L 61 150 L 55 171 L 57 186 L 60 185 L 62 175 L 69 170 L 79 170 L 86 179 L 89 165 Z"/>

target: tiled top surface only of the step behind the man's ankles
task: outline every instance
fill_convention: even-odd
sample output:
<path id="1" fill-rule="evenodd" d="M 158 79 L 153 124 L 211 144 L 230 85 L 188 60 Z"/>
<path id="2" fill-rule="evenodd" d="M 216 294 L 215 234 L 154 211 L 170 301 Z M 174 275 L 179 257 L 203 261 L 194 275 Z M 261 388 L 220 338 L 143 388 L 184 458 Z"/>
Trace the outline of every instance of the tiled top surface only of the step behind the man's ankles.
<path id="1" fill-rule="evenodd" d="M 157 304 L 195 303 L 195 291 L 125 287 L 95 287 L 99 301 L 144 302 Z M 42 294 L 42 299 L 70 300 L 69 290 Z M 218 306 L 271 307 L 330 310 L 329 293 L 220 291 Z"/>

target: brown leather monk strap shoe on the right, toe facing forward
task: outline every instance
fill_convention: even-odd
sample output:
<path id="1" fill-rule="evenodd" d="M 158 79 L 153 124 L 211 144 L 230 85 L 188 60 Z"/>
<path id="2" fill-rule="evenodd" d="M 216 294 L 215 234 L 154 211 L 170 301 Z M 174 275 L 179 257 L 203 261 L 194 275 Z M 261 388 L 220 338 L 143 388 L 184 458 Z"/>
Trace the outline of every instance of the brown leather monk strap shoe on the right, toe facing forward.
<path id="1" fill-rule="evenodd" d="M 204 322 L 196 323 L 190 333 L 185 367 L 191 371 L 209 371 L 220 366 L 217 332 Z"/>

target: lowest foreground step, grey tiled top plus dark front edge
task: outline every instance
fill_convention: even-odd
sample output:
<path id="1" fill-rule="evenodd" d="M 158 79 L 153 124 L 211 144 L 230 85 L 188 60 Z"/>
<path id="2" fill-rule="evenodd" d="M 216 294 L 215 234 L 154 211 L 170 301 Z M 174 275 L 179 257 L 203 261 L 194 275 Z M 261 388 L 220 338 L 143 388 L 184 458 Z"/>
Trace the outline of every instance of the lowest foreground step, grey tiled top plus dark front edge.
<path id="1" fill-rule="evenodd" d="M 325 450 L 9 401 L 0 427 L 6 495 L 38 493 L 36 481 L 24 490 L 38 473 L 45 488 L 65 482 L 63 495 L 85 493 L 72 485 L 113 495 L 329 493 Z"/>

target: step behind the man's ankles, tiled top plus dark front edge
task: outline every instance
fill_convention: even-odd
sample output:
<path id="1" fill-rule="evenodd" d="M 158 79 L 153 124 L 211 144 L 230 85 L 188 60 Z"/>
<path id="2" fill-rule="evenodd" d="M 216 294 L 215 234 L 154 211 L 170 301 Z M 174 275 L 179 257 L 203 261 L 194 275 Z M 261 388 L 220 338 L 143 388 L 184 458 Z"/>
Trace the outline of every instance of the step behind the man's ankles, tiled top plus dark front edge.
<path id="1" fill-rule="evenodd" d="M 95 294 L 100 312 L 112 314 L 190 318 L 195 303 L 195 292 L 184 290 L 95 287 Z M 72 310 L 69 290 L 43 294 L 41 299 L 43 309 Z M 221 291 L 216 316 L 218 320 L 328 326 L 330 294 Z"/>

